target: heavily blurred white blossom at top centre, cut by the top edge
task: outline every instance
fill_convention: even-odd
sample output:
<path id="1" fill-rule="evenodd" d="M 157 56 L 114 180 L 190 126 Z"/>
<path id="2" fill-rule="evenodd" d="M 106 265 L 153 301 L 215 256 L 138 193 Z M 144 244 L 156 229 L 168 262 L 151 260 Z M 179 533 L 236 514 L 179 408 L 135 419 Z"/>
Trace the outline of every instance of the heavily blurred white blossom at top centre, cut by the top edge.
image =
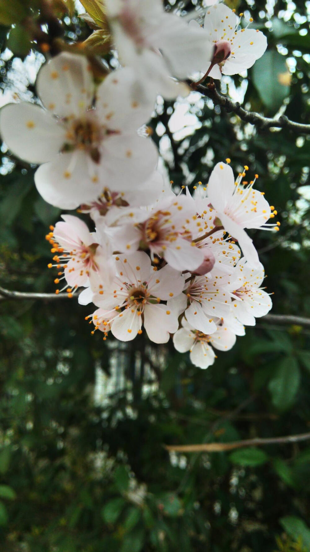
<path id="1" fill-rule="evenodd" d="M 122 65 L 133 67 L 141 97 L 188 95 L 174 81 L 199 70 L 212 45 L 201 29 L 164 11 L 162 0 L 106 0 L 108 20 Z"/>

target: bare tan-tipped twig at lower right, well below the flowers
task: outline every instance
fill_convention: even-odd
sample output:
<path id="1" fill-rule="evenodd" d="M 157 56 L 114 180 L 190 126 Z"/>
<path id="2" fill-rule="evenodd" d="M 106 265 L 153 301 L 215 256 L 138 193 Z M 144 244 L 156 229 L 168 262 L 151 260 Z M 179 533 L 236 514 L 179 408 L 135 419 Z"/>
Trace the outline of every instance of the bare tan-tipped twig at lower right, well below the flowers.
<path id="1" fill-rule="evenodd" d="M 268 437 L 266 439 L 256 437 L 255 439 L 245 439 L 243 441 L 234 441 L 233 443 L 204 443 L 199 445 L 164 445 L 169 452 L 221 452 L 223 450 L 233 450 L 243 447 L 261 447 L 272 444 L 298 443 L 310 439 L 310 433 L 301 433 L 299 435 L 287 435 L 285 437 Z"/>

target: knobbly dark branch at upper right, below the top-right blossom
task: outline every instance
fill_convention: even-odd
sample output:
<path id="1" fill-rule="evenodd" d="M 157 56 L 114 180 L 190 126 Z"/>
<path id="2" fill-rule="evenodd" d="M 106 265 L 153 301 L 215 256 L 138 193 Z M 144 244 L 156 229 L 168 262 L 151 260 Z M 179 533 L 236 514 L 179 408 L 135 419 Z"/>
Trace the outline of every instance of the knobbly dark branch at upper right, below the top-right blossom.
<path id="1" fill-rule="evenodd" d="M 260 115 L 259 113 L 247 111 L 241 107 L 239 102 L 232 102 L 228 96 L 219 94 L 214 83 L 209 84 L 209 86 L 202 86 L 201 84 L 198 84 L 196 87 L 195 83 L 191 82 L 190 84 L 194 90 L 200 92 L 207 98 L 211 98 L 214 104 L 220 105 L 220 107 L 225 109 L 227 113 L 236 113 L 240 119 L 245 121 L 245 123 L 255 125 L 260 130 L 267 130 L 270 128 L 286 128 L 288 130 L 292 130 L 293 132 L 297 132 L 297 134 L 310 134 L 310 125 L 295 123 L 295 121 L 288 119 L 286 115 L 281 115 L 279 119 L 270 119 Z"/>

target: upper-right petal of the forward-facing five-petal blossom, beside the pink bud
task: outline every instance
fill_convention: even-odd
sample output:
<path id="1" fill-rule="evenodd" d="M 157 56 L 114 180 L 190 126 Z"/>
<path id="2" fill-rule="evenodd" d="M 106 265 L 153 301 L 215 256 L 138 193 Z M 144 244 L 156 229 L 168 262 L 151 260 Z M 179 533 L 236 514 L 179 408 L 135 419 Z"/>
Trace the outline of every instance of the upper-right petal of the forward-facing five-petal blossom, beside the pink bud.
<path id="1" fill-rule="evenodd" d="M 149 279 L 148 290 L 154 297 L 159 297 L 163 301 L 179 295 L 184 288 L 184 277 L 168 264 L 156 270 Z"/>

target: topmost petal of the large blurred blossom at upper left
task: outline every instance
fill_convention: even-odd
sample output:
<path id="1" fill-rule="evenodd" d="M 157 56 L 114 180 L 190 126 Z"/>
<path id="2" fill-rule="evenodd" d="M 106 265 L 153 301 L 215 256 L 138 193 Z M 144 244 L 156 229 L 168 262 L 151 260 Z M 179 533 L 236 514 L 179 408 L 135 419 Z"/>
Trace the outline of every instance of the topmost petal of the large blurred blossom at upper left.
<path id="1" fill-rule="evenodd" d="M 38 94 L 52 113 L 79 116 L 91 105 L 93 76 L 87 58 L 62 52 L 41 67 L 36 79 Z"/>

